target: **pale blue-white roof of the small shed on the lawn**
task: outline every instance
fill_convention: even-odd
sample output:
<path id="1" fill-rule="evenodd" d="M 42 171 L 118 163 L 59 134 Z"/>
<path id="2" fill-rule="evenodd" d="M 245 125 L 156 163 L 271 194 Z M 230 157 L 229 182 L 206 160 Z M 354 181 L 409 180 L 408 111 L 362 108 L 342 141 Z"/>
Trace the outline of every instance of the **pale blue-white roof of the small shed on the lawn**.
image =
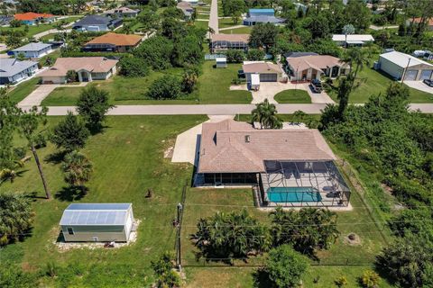
<path id="1" fill-rule="evenodd" d="M 62 226 L 124 225 L 132 203 L 77 203 L 63 211 Z"/>

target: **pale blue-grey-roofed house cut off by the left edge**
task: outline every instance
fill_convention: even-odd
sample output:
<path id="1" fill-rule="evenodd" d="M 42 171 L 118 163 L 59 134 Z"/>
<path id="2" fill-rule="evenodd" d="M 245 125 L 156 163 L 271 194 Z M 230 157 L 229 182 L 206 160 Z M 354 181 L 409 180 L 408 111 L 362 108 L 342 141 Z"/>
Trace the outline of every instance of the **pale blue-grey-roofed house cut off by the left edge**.
<path id="1" fill-rule="evenodd" d="M 38 62 L 0 58 L 0 85 L 15 84 L 32 76 L 38 70 Z"/>

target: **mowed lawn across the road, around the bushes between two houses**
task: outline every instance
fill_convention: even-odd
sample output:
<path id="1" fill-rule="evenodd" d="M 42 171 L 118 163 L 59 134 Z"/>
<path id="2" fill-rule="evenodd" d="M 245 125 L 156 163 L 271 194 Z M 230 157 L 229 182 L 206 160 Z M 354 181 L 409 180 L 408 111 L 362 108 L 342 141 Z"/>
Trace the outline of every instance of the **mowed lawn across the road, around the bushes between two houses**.
<path id="1" fill-rule="evenodd" d="M 229 91 L 233 78 L 237 76 L 240 65 L 230 64 L 227 68 L 214 68 L 214 61 L 203 65 L 203 74 L 198 77 L 197 90 L 184 99 L 152 100 L 146 99 L 145 93 L 153 81 L 171 74 L 181 76 L 181 68 L 171 68 L 161 72 L 152 72 L 144 77 L 114 76 L 106 81 L 94 81 L 88 85 L 106 89 L 114 104 L 194 104 L 194 103 L 251 103 L 251 93 L 247 91 Z M 45 106 L 69 106 L 77 103 L 83 87 L 59 87 L 42 101 Z"/>

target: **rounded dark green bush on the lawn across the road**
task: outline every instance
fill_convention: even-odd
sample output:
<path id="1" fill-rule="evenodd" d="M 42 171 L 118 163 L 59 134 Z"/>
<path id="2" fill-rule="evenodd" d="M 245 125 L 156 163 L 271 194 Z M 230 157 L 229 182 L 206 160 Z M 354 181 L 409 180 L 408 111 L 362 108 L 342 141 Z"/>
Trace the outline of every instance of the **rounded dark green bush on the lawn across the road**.
<path id="1" fill-rule="evenodd" d="M 165 75 L 156 79 L 147 91 L 147 98 L 177 99 L 182 94 L 182 82 L 178 76 Z"/>

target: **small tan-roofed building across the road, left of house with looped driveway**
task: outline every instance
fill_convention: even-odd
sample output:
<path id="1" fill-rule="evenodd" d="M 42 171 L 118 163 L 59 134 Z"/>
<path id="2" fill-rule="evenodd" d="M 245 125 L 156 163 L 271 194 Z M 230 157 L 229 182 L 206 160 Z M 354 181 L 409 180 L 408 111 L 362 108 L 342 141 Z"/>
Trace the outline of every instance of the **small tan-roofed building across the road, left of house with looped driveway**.
<path id="1" fill-rule="evenodd" d="M 249 89 L 259 88 L 261 82 L 281 81 L 283 76 L 279 65 L 264 61 L 244 61 L 242 69 Z"/>

